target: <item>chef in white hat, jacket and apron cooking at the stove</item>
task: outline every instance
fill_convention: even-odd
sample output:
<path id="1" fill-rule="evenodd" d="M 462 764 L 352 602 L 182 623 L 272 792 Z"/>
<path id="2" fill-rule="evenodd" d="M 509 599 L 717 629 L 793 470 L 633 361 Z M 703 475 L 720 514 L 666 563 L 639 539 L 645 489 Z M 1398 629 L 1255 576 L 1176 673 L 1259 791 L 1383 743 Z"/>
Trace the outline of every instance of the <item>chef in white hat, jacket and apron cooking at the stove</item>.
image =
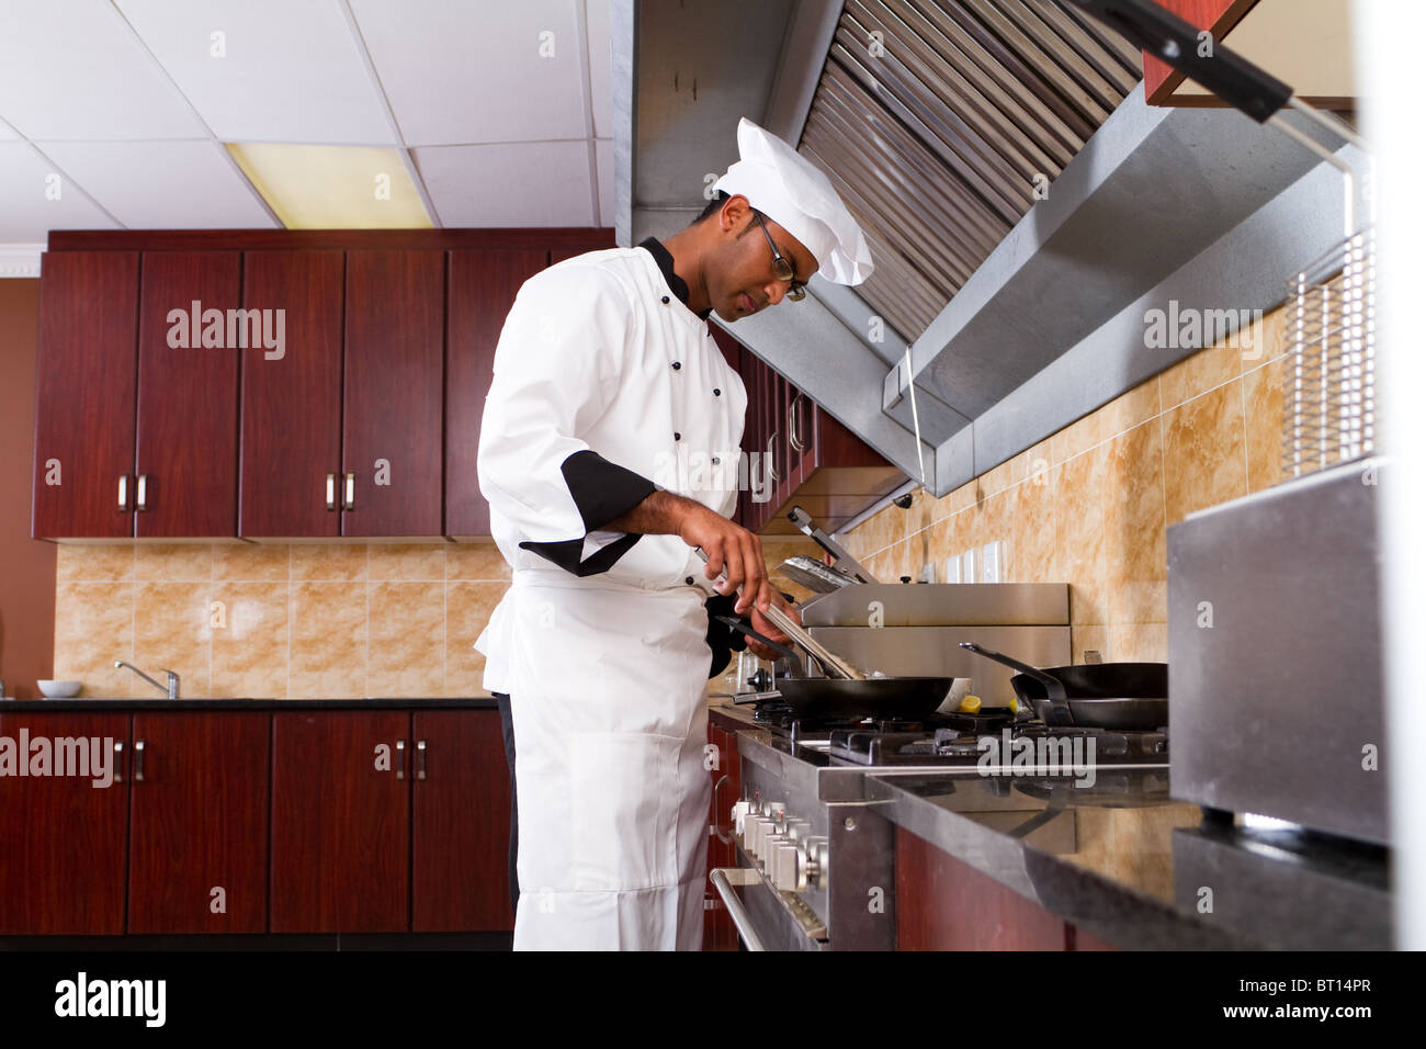
<path id="1" fill-rule="evenodd" d="M 813 273 L 857 284 L 871 257 L 821 171 L 746 118 L 737 146 L 699 221 L 545 270 L 501 331 L 478 468 L 512 581 L 476 648 L 513 729 L 518 951 L 700 948 L 704 605 L 742 587 L 736 612 L 786 639 L 729 520 L 757 471 L 706 320 L 799 300 Z"/>

